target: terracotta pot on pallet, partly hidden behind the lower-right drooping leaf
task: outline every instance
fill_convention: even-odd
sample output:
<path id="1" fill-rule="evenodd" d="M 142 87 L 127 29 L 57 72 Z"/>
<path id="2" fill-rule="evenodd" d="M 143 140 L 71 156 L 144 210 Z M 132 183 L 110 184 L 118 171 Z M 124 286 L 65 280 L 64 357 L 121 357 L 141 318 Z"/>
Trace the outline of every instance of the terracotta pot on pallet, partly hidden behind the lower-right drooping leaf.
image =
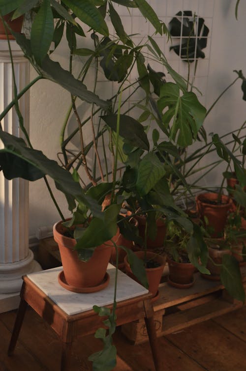
<path id="1" fill-rule="evenodd" d="M 211 259 L 208 259 L 207 268 L 210 271 L 211 275 L 209 274 L 203 274 L 202 276 L 206 278 L 207 280 L 213 280 L 213 281 L 220 281 L 220 271 L 221 271 L 221 264 L 222 264 L 222 257 L 225 254 L 231 255 L 230 250 L 220 250 L 219 248 L 215 247 L 209 247 L 209 256 L 212 258 L 212 260 L 215 262 L 215 265 L 213 264 L 213 261 Z"/>

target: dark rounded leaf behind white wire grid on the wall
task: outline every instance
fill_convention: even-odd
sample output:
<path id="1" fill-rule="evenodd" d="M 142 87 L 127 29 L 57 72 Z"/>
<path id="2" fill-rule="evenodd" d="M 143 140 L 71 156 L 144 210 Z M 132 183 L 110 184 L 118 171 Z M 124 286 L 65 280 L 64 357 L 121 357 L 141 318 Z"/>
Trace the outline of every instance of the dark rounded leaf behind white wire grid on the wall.
<path id="1" fill-rule="evenodd" d="M 171 46 L 170 50 L 173 49 L 184 61 L 205 58 L 202 50 L 207 46 L 209 29 L 203 18 L 190 10 L 179 11 L 169 22 L 169 30 L 171 36 L 180 37 L 179 44 Z"/>

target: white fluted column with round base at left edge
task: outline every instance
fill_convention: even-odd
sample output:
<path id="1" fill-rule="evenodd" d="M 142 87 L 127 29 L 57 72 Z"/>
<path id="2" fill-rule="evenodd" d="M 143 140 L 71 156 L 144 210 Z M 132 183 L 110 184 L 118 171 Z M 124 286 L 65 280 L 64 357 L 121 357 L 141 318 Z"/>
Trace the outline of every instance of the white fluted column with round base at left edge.
<path id="1" fill-rule="evenodd" d="M 29 83 L 30 65 L 15 41 L 11 41 L 18 92 Z M 7 41 L 0 41 L 0 112 L 12 101 L 14 81 Z M 19 101 L 24 125 L 29 131 L 29 93 Z M 4 131 L 23 137 L 14 109 L 1 121 Z M 0 143 L 2 148 L 2 143 Z M 41 270 L 29 249 L 28 181 L 7 180 L 0 172 L 0 313 L 14 309 L 24 274 Z M 8 294 L 8 295 L 4 295 Z"/>

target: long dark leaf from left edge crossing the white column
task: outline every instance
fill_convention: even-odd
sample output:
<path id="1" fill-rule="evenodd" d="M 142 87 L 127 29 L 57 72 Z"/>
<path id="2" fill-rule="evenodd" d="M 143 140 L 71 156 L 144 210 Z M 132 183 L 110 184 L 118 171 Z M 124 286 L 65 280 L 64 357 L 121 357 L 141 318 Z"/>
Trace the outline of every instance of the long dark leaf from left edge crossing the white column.
<path id="1" fill-rule="evenodd" d="M 4 176 L 7 179 L 15 178 L 20 176 L 20 174 L 24 179 L 28 180 L 36 180 L 44 174 L 49 175 L 54 179 L 57 188 L 65 195 L 69 195 L 78 202 L 85 203 L 91 208 L 94 215 L 102 218 L 101 208 L 98 203 L 90 197 L 85 196 L 80 184 L 73 180 L 72 174 L 69 171 L 64 170 L 56 161 L 48 159 L 41 151 L 27 147 L 23 139 L 8 134 L 1 129 L 0 139 L 4 144 L 4 149 L 0 152 L 0 167 L 4 169 Z M 4 164 L 6 156 L 2 156 L 2 153 L 11 154 L 10 160 L 13 159 L 13 156 L 20 158 L 22 161 L 17 161 L 17 164 L 20 165 L 21 169 L 16 168 L 15 173 L 13 166 L 10 166 L 9 169 L 6 168 Z M 23 161 L 31 164 L 31 167 L 24 165 L 23 168 Z M 37 169 L 36 172 L 32 167 Z"/>

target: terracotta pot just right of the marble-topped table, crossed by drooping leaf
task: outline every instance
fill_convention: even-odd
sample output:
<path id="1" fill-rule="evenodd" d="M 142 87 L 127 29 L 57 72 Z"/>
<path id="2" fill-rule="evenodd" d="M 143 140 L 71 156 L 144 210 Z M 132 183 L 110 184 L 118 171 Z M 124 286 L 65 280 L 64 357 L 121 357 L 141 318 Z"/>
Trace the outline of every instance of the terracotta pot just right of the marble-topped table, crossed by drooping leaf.
<path id="1" fill-rule="evenodd" d="M 144 259 L 145 256 L 144 251 L 137 251 L 134 254 L 136 254 L 136 256 L 139 257 L 140 259 L 142 260 Z M 155 268 L 146 268 L 146 275 L 149 283 L 149 291 L 153 294 L 154 297 L 157 294 L 162 272 L 166 264 L 166 256 L 161 256 L 153 253 L 152 251 L 147 251 L 146 257 L 147 260 L 153 259 L 154 261 L 160 264 L 158 267 Z M 124 257 L 124 264 L 128 276 L 130 276 L 133 280 L 139 282 L 131 271 L 130 265 L 127 260 L 127 256 Z"/>

